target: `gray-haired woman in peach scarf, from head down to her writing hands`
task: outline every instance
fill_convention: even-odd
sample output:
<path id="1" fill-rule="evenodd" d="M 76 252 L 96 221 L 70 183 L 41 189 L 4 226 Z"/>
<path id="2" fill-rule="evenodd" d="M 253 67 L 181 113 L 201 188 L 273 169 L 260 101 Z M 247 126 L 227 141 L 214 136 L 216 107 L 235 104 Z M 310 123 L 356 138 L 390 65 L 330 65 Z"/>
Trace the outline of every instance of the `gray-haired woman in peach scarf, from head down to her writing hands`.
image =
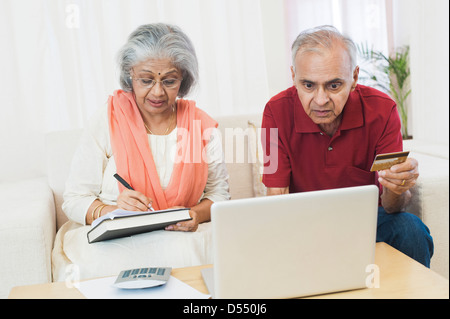
<path id="1" fill-rule="evenodd" d="M 190 207 L 192 220 L 166 230 L 195 231 L 229 192 L 217 123 L 181 99 L 198 77 L 192 43 L 176 26 L 143 25 L 123 46 L 119 64 L 122 90 L 82 138 L 63 210 L 72 221 L 91 224 L 117 208 Z"/>

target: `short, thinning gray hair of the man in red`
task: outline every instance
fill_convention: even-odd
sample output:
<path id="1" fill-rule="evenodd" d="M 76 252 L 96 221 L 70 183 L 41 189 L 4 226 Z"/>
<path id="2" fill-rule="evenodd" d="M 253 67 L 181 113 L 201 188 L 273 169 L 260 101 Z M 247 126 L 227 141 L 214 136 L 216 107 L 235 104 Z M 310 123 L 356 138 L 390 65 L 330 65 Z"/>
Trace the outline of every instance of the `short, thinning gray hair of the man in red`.
<path id="1" fill-rule="evenodd" d="M 331 48 L 335 41 L 339 41 L 346 48 L 352 70 L 356 68 L 356 46 L 349 37 L 342 35 L 331 25 L 322 25 L 301 32 L 292 44 L 292 65 L 295 69 L 295 57 L 299 50 L 320 52 L 321 48 Z"/>

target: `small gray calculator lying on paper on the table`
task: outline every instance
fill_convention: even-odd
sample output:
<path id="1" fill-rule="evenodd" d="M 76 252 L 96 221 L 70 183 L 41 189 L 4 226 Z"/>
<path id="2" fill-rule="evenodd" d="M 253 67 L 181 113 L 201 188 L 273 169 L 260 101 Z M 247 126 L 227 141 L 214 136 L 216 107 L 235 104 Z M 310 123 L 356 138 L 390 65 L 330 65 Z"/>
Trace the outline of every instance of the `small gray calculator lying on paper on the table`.
<path id="1" fill-rule="evenodd" d="M 171 267 L 147 267 L 122 270 L 113 286 L 122 289 L 141 289 L 164 285 L 170 278 Z"/>

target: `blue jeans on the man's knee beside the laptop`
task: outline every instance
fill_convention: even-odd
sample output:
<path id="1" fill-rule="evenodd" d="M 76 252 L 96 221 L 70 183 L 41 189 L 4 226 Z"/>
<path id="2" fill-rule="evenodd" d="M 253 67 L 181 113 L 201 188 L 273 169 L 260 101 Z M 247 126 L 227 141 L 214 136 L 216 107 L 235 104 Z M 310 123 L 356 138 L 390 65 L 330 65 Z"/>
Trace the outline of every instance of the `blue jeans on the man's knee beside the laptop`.
<path id="1" fill-rule="evenodd" d="M 378 207 L 377 242 L 380 241 L 430 268 L 433 238 L 417 216 L 405 212 L 388 214 Z"/>

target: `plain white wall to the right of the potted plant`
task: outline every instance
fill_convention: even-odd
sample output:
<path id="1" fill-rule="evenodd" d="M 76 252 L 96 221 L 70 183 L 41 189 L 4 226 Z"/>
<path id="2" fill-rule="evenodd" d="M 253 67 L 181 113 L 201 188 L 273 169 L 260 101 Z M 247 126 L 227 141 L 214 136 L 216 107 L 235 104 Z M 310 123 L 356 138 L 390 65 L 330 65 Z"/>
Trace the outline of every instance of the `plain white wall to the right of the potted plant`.
<path id="1" fill-rule="evenodd" d="M 449 144 L 449 1 L 394 0 L 397 44 L 410 45 L 414 139 Z"/>

